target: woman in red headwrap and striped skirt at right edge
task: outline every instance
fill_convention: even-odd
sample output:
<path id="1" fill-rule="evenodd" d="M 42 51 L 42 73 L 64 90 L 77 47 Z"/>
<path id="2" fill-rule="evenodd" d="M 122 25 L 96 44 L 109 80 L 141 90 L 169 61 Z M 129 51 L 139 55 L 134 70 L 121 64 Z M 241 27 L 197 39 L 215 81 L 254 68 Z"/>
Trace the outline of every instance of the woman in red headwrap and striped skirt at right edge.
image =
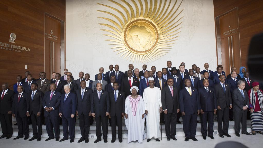
<path id="1" fill-rule="evenodd" d="M 257 132 L 263 135 L 263 94 L 259 89 L 259 82 L 252 83 L 248 95 L 252 134 L 256 135 Z"/>

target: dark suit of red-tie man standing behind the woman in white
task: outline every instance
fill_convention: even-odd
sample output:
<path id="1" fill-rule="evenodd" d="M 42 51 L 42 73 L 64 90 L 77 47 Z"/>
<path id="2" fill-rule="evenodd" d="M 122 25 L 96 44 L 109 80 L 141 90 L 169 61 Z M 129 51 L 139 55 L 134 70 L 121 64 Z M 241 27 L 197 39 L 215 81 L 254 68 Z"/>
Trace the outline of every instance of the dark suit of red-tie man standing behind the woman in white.
<path id="1" fill-rule="evenodd" d="M 130 86 L 129 77 L 127 76 L 123 78 L 122 84 L 120 85 L 120 91 L 125 93 L 125 98 L 131 95 L 130 89 L 132 86 L 139 87 L 139 80 L 137 78 L 131 77 L 131 82 L 132 82 L 132 85 Z M 137 94 L 139 94 L 139 92 L 137 92 Z"/>

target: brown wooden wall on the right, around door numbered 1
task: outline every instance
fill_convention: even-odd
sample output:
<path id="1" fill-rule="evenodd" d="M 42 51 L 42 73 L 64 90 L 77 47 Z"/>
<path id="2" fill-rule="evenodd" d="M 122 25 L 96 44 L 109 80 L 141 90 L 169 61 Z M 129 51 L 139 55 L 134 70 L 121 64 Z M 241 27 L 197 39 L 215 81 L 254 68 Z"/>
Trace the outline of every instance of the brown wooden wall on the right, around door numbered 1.
<path id="1" fill-rule="evenodd" d="M 214 0 L 215 18 L 235 7 L 238 7 L 241 66 L 246 67 L 250 39 L 255 34 L 263 32 L 263 1 Z"/>

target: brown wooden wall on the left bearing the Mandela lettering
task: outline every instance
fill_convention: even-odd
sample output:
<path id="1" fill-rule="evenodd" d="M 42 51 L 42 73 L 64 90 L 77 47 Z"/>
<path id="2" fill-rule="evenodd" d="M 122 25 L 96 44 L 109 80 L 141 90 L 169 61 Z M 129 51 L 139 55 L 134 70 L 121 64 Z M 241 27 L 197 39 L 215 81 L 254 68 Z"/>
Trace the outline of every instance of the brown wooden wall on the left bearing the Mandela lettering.
<path id="1" fill-rule="evenodd" d="M 16 83 L 16 76 L 24 78 L 27 70 L 39 78 L 39 72 L 44 71 L 45 12 L 65 22 L 65 7 L 65 0 L 0 1 L 0 42 L 30 48 L 30 52 L 0 49 L 1 84 Z M 16 43 L 8 42 L 12 32 Z"/>

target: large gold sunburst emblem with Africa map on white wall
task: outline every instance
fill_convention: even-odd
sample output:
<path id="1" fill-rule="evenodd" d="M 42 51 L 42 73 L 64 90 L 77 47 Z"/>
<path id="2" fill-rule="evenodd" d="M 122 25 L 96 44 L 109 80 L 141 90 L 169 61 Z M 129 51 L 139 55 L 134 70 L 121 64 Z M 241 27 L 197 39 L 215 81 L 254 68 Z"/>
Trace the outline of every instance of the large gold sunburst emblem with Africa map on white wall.
<path id="1" fill-rule="evenodd" d="M 117 54 L 122 53 L 120 57 L 124 56 L 123 58 L 127 58 L 127 60 L 130 58 L 130 61 L 134 62 L 136 60 L 136 62 L 145 63 L 155 61 L 168 53 L 170 47 L 173 46 L 172 44 L 177 40 L 181 29 L 180 24 L 182 21 L 180 20 L 183 17 L 179 18 L 178 16 L 183 11 L 183 9 L 179 11 L 182 1 L 177 4 L 176 0 L 174 4 L 171 4 L 172 0 L 168 0 L 169 2 L 164 0 L 164 3 L 160 0 L 158 4 L 157 0 L 154 0 L 154 2 L 153 0 L 144 0 L 143 5 L 141 0 L 137 0 L 140 5 L 138 7 L 135 0 L 130 0 L 136 12 L 134 12 L 133 6 L 125 0 L 120 1 L 128 7 L 113 0 L 108 1 L 123 9 L 126 14 L 125 16 L 116 6 L 112 7 L 98 3 L 114 10 L 113 12 L 98 11 L 113 16 L 118 20 L 118 23 L 110 18 L 98 18 L 108 20 L 114 25 L 100 23 L 100 25 L 111 29 L 102 30 L 111 33 L 104 35 L 114 38 L 107 40 L 113 42 L 108 45 L 115 45 L 112 49 L 117 48 L 114 51 L 117 51 Z M 120 15 L 121 18 L 114 12 Z"/>

